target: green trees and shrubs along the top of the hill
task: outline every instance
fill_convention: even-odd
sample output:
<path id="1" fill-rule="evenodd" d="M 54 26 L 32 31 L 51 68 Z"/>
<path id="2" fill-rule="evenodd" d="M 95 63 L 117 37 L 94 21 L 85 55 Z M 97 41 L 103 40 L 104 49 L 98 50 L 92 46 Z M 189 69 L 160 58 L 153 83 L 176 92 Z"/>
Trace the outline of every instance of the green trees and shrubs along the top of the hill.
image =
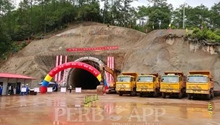
<path id="1" fill-rule="evenodd" d="M 0 57 L 26 46 L 28 39 L 40 39 L 68 24 L 94 21 L 133 28 L 142 32 L 154 29 L 182 28 L 183 5 L 173 9 L 167 0 L 147 0 L 148 6 L 132 7 L 134 0 L 0 0 Z M 185 5 L 185 26 L 194 30 L 189 38 L 219 42 L 220 2 L 211 9 L 204 5 Z M 148 19 L 146 23 L 146 17 Z M 139 23 L 137 23 L 139 21 Z M 202 25 L 206 28 L 199 30 Z M 24 41 L 24 44 L 12 41 Z"/>

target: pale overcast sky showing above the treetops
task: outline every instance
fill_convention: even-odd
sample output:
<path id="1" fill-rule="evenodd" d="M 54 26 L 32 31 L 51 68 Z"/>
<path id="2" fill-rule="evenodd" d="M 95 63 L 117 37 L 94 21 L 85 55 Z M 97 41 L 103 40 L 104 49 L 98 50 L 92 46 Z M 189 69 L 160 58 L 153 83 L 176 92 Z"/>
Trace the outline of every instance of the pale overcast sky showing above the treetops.
<path id="1" fill-rule="evenodd" d="M 14 0 L 14 2 L 17 5 L 20 1 L 22 1 L 22 0 Z M 203 5 L 210 8 L 211 6 L 214 5 L 214 3 L 220 2 L 220 0 L 167 0 L 167 2 L 171 3 L 174 8 L 178 8 L 184 2 L 186 2 L 187 4 L 189 4 L 190 6 L 193 6 L 193 7 L 203 4 Z M 147 5 L 147 0 L 138 0 L 138 1 L 133 2 L 132 5 L 134 7 Z"/>

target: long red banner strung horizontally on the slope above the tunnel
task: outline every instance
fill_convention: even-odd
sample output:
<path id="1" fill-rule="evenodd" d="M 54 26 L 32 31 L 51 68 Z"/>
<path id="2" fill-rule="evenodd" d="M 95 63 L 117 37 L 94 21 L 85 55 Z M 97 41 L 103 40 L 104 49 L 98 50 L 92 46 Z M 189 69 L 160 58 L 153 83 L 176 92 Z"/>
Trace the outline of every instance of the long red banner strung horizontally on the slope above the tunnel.
<path id="1" fill-rule="evenodd" d="M 117 50 L 118 46 L 103 46 L 94 48 L 67 48 L 67 52 L 82 52 L 82 51 L 99 51 L 99 50 Z"/>

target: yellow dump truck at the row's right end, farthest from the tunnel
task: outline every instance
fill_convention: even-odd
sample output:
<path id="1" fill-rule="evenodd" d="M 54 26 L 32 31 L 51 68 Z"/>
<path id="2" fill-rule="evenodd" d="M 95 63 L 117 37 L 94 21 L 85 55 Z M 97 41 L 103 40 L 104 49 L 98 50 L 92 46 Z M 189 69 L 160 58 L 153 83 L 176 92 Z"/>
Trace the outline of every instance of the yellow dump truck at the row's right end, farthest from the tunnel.
<path id="1" fill-rule="evenodd" d="M 186 93 L 188 99 L 196 96 L 214 97 L 214 83 L 210 71 L 190 71 L 187 77 Z"/>

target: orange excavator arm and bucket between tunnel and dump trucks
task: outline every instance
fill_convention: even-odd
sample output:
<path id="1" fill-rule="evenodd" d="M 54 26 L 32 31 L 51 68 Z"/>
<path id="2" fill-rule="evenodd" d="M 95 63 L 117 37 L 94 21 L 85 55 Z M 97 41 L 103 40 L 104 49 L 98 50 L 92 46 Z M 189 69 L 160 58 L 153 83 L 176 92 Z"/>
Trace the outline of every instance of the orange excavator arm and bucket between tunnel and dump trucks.
<path id="1" fill-rule="evenodd" d="M 107 93 L 115 93 L 116 90 L 116 81 L 117 81 L 117 76 L 121 73 L 119 70 L 112 70 L 111 68 L 109 68 L 108 66 L 104 66 L 103 67 L 103 71 L 106 71 L 108 73 L 110 73 L 113 76 L 113 81 L 109 84 L 109 88 Z"/>

